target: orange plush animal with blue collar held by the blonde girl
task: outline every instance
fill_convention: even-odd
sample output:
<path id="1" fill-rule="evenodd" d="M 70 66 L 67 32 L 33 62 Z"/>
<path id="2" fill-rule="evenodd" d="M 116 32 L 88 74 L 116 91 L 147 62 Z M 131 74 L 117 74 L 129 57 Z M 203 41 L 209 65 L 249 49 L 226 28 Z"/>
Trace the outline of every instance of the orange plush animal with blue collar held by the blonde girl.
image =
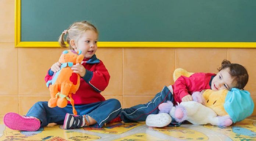
<path id="1" fill-rule="evenodd" d="M 73 73 L 71 67 L 77 63 L 81 63 L 83 55 L 81 51 L 75 52 L 73 50 L 66 50 L 60 56 L 58 62 L 61 63 L 60 70 L 54 73 L 50 82 L 47 82 L 49 86 L 51 99 L 48 101 L 48 106 L 64 108 L 67 106 L 69 100 L 72 107 L 73 113 L 77 115 L 77 111 L 74 107 L 74 100 L 71 94 L 77 92 L 80 85 L 79 74 Z"/>

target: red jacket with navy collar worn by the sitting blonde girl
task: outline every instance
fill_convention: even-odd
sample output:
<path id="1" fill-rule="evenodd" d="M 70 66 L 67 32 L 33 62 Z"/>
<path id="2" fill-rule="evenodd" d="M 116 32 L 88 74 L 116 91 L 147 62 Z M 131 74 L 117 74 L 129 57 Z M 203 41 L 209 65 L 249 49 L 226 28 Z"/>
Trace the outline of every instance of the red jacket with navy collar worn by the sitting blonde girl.
<path id="1" fill-rule="evenodd" d="M 90 104 L 104 101 L 105 98 L 100 94 L 109 84 L 110 75 L 101 60 L 93 55 L 89 60 L 83 59 L 82 65 L 86 69 L 84 77 L 80 78 L 80 86 L 75 94 L 72 95 L 75 104 Z M 45 76 L 45 81 L 52 79 L 51 70 Z M 68 102 L 70 104 L 70 102 Z"/>

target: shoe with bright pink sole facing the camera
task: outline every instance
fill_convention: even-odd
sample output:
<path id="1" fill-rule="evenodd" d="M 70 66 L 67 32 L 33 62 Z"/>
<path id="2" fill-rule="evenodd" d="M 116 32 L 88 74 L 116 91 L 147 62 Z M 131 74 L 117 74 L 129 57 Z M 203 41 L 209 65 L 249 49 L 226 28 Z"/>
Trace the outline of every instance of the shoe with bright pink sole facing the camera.
<path id="1" fill-rule="evenodd" d="M 4 115 L 4 124 L 13 130 L 36 131 L 40 128 L 40 120 L 31 116 L 21 116 L 14 112 Z"/>

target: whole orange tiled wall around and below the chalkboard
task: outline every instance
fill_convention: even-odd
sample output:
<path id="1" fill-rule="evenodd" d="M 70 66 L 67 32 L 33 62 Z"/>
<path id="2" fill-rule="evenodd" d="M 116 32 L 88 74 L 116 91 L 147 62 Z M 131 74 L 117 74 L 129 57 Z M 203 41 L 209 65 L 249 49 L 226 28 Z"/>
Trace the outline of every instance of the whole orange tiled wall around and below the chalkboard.
<path id="1" fill-rule="evenodd" d="M 36 101 L 49 99 L 43 79 L 63 49 L 14 48 L 14 0 L 1 0 L 0 13 L 0 116 L 25 114 Z M 111 75 L 102 94 L 120 100 L 123 107 L 145 103 L 173 84 L 175 68 L 217 73 L 223 59 L 248 69 L 246 89 L 256 101 L 255 54 L 256 49 L 242 48 L 99 48 L 96 53 Z"/>

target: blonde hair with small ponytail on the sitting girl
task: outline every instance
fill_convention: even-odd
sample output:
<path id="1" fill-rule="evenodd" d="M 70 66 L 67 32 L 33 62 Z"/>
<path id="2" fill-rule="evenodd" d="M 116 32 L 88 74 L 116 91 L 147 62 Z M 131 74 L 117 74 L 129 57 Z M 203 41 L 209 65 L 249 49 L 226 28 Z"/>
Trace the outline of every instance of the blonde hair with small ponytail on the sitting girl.
<path id="1" fill-rule="evenodd" d="M 67 38 L 66 41 L 70 45 L 70 40 L 77 41 L 81 34 L 83 34 L 86 30 L 93 30 L 95 33 L 98 34 L 98 30 L 94 25 L 87 21 L 81 21 L 81 22 L 75 22 L 67 29 Z M 65 33 L 62 33 L 58 39 L 58 42 L 61 47 L 65 48 L 67 47 L 64 41 Z M 70 49 L 73 49 L 70 45 Z M 74 49 L 73 49 L 74 50 Z"/>

